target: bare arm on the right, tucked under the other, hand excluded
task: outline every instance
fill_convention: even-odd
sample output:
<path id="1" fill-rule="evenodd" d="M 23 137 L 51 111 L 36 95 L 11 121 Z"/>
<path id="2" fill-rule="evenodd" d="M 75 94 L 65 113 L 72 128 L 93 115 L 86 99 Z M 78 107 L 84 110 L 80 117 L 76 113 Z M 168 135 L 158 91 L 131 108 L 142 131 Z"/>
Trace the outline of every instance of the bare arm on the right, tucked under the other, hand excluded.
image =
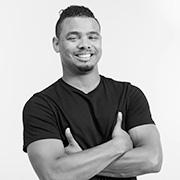
<path id="1" fill-rule="evenodd" d="M 117 158 L 99 175 L 109 177 L 134 177 L 158 172 L 162 164 L 160 137 L 155 125 L 132 128 L 129 135 L 134 148 Z"/>

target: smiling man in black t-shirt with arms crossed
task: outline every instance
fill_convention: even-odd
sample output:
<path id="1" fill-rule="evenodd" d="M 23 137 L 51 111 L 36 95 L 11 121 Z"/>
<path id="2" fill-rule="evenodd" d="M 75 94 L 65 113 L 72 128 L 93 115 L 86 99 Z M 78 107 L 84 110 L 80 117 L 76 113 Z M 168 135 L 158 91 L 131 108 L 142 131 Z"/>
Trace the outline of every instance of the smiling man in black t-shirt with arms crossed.
<path id="1" fill-rule="evenodd" d="M 144 94 L 98 72 L 101 35 L 93 13 L 63 10 L 53 46 L 63 76 L 23 110 L 23 150 L 39 179 L 134 180 L 158 172 L 160 138 Z"/>

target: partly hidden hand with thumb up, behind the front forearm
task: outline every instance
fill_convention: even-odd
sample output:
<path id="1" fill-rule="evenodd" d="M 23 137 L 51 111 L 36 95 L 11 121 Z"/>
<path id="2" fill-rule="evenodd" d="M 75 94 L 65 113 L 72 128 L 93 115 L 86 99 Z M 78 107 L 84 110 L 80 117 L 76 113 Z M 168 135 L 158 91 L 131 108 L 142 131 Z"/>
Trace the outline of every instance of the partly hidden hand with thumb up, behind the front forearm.
<path id="1" fill-rule="evenodd" d="M 72 154 L 79 151 L 82 151 L 79 144 L 74 139 L 73 135 L 71 134 L 70 128 L 67 128 L 65 131 L 66 138 L 68 140 L 69 145 L 65 147 L 66 154 Z"/>

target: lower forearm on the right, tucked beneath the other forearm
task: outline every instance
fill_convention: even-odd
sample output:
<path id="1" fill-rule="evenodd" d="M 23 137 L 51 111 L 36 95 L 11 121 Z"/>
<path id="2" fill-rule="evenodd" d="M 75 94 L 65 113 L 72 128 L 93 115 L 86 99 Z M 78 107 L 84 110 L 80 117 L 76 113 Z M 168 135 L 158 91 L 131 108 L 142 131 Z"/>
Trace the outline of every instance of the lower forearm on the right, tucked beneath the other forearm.
<path id="1" fill-rule="evenodd" d="M 156 154 L 148 147 L 134 148 L 113 161 L 99 175 L 127 178 L 158 172 L 161 164 L 158 164 L 158 161 L 161 160 L 158 159 L 159 157 Z"/>

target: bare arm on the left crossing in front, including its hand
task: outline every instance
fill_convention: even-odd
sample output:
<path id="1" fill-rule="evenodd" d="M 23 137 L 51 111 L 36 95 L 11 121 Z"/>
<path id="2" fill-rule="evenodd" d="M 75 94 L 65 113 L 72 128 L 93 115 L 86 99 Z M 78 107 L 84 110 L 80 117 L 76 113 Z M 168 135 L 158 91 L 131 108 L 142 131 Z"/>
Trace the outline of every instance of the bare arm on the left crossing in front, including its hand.
<path id="1" fill-rule="evenodd" d="M 98 174 L 132 148 L 129 136 L 119 131 L 121 122 L 122 119 L 118 118 L 110 141 L 84 151 L 77 150 L 78 144 L 72 144 L 75 140 L 67 134 L 70 153 L 66 153 L 61 140 L 45 139 L 31 143 L 27 151 L 40 180 L 84 180 Z"/>

